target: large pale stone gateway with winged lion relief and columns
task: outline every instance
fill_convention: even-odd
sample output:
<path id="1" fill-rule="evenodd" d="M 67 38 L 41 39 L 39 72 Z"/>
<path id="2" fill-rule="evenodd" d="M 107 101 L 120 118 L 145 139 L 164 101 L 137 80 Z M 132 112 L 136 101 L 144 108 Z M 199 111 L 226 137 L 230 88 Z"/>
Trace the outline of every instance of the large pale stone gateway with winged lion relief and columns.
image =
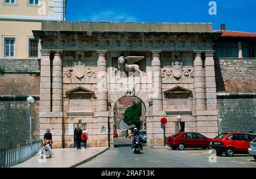
<path id="1" fill-rule="evenodd" d="M 217 135 L 217 35 L 209 24 L 42 27 L 34 31 L 42 44 L 40 136 L 50 128 L 53 147 L 73 147 L 76 124 L 88 130 L 89 146 L 113 147 L 114 108 L 122 97 L 138 97 L 146 106 L 149 146 L 164 144 L 163 117 L 167 136 L 181 128 Z"/>

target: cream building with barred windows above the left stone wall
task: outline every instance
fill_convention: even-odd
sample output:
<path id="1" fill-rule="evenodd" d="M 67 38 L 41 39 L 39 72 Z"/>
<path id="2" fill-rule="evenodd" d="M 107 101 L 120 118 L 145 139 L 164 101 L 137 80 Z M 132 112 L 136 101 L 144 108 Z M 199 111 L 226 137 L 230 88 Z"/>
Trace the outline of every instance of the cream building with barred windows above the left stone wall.
<path id="1" fill-rule="evenodd" d="M 65 6 L 62 0 L 1 0 L 1 58 L 38 58 L 40 44 L 32 30 L 41 30 L 45 20 L 65 20 Z"/>

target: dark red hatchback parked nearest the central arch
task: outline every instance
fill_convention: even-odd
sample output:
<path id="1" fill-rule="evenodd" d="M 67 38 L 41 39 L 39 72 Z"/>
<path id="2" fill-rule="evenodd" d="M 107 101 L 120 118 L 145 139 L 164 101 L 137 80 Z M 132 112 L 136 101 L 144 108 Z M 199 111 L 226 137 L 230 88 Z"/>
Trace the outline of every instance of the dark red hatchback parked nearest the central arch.
<path id="1" fill-rule="evenodd" d="M 209 148 L 212 139 L 196 132 L 179 132 L 168 138 L 167 145 L 172 149 Z"/>

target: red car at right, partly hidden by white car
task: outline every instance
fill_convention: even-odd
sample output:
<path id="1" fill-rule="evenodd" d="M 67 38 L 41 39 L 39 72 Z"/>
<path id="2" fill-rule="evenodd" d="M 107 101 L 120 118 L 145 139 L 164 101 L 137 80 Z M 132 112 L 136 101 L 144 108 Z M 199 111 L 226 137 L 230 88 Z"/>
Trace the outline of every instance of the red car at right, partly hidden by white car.
<path id="1" fill-rule="evenodd" d="M 215 149 L 217 156 L 225 152 L 226 156 L 232 157 L 235 153 L 248 153 L 250 143 L 254 139 L 254 135 L 246 133 L 223 133 L 213 139 L 210 149 Z"/>

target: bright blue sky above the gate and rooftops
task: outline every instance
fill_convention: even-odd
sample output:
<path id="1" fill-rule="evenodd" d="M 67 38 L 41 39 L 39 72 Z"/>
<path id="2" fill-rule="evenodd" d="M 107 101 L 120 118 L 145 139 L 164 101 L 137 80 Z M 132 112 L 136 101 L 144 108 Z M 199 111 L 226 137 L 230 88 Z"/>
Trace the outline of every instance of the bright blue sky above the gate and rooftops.
<path id="1" fill-rule="evenodd" d="M 217 15 L 209 15 L 211 0 L 68 0 L 68 21 L 205 22 L 219 30 L 256 32 L 255 0 L 215 0 Z"/>

